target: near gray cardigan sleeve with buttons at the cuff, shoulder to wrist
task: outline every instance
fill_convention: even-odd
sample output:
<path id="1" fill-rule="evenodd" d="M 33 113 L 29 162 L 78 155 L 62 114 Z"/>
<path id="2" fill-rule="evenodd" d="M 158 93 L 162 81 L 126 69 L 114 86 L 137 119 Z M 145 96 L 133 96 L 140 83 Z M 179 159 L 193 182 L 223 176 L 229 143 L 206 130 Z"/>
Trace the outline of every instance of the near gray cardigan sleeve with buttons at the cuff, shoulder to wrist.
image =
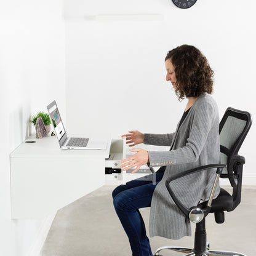
<path id="1" fill-rule="evenodd" d="M 176 140 L 183 141 L 185 145 L 171 151 L 149 151 L 150 166 L 167 166 L 196 162 L 206 144 L 212 126 L 214 125 L 216 110 L 209 102 L 202 102 L 197 106 L 190 120 L 190 133 L 188 138 L 177 133 Z"/>

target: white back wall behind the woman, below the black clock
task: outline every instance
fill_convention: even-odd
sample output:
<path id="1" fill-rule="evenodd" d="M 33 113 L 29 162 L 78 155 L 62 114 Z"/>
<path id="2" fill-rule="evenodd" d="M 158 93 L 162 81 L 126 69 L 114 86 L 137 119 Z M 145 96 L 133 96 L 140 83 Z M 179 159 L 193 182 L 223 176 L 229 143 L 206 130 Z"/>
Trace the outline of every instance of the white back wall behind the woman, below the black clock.
<path id="1" fill-rule="evenodd" d="M 193 44 L 208 58 L 220 116 L 228 106 L 255 116 L 255 7 L 253 0 L 197 1 L 187 10 L 170 0 L 66 0 L 70 134 L 172 132 L 185 101 L 165 81 L 164 57 L 180 44 Z M 240 151 L 247 185 L 256 185 L 255 136 L 253 125 Z"/>

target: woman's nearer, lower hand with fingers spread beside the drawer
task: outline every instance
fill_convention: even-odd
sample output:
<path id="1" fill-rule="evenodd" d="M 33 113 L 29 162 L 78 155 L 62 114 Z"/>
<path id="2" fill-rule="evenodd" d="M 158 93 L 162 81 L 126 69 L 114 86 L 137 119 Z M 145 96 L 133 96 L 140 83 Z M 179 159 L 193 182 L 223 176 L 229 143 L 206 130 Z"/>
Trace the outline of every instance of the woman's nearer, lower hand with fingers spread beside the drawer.
<path id="1" fill-rule="evenodd" d="M 134 154 L 129 158 L 123 159 L 121 161 L 121 168 L 123 170 L 136 168 L 132 172 L 132 174 L 134 174 L 135 172 L 137 172 L 138 169 L 140 169 L 141 166 L 149 162 L 148 151 L 143 150 L 142 148 L 132 148 L 130 151 L 137 152 L 137 154 Z"/>

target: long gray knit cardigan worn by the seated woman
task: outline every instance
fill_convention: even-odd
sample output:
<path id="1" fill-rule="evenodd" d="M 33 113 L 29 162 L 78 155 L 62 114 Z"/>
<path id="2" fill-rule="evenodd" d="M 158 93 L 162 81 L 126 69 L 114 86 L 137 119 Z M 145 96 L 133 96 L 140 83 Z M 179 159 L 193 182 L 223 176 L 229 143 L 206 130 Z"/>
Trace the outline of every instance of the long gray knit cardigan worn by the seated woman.
<path id="1" fill-rule="evenodd" d="M 191 236 L 190 220 L 178 209 L 165 182 L 172 175 L 194 167 L 220 162 L 218 108 L 209 94 L 194 102 L 182 125 L 172 134 L 145 134 L 144 143 L 171 146 L 170 151 L 149 151 L 150 166 L 166 166 L 164 176 L 153 193 L 150 209 L 150 236 L 180 239 Z M 179 178 L 170 183 L 186 207 L 207 201 L 214 184 L 215 169 Z M 220 192 L 217 186 L 214 197 Z"/>

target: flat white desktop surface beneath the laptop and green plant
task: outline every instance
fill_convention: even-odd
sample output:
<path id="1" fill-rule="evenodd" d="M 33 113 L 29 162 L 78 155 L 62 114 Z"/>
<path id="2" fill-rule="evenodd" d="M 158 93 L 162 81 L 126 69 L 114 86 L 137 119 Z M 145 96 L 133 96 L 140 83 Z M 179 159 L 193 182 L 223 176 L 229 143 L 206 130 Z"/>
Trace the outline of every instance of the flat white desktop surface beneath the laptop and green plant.
<path id="1" fill-rule="evenodd" d="M 97 138 L 94 136 L 94 138 Z M 20 144 L 12 153 L 11 158 L 108 158 L 111 146 L 111 137 L 108 140 L 106 150 L 62 150 L 58 145 L 57 137 L 47 135 L 44 138 L 36 138 L 33 134 Z M 26 143 L 33 140 L 35 143 Z"/>

